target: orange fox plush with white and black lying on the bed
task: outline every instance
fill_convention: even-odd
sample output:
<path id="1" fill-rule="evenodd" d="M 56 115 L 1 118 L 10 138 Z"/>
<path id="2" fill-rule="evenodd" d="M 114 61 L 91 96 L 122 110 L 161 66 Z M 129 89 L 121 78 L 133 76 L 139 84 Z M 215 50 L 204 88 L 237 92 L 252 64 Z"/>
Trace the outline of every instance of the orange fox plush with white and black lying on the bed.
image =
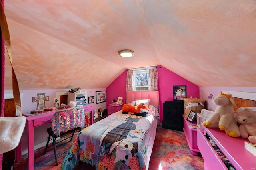
<path id="1" fill-rule="evenodd" d="M 124 104 L 122 108 L 123 114 L 133 114 L 136 116 L 143 116 L 146 117 L 148 114 L 148 107 L 145 103 L 138 103 L 137 106 L 132 106 L 130 103 Z"/>

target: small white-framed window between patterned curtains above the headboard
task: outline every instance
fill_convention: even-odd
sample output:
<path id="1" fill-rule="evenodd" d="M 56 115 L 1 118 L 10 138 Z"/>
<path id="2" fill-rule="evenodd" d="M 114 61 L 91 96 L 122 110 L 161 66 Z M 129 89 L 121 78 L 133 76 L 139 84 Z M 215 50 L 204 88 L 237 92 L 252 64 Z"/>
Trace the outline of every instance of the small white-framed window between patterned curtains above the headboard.
<path id="1" fill-rule="evenodd" d="M 134 70 L 132 75 L 132 88 L 136 91 L 148 90 L 149 74 L 146 70 Z"/>

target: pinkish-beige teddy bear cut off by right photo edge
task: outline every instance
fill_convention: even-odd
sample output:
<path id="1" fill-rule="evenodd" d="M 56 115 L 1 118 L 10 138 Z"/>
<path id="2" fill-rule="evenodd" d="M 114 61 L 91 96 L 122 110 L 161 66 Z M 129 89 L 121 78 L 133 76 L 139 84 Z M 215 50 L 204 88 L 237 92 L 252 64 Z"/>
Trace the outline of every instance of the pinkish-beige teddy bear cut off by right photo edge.
<path id="1" fill-rule="evenodd" d="M 248 138 L 256 144 L 256 107 L 240 107 L 235 111 L 235 119 L 239 126 L 242 138 Z"/>

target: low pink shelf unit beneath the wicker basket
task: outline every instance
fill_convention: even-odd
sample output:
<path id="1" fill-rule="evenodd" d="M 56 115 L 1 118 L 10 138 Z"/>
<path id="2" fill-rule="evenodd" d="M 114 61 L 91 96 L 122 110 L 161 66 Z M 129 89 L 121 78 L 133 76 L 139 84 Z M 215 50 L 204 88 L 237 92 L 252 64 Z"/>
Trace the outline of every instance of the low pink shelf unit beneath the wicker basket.
<path id="1" fill-rule="evenodd" d="M 197 146 L 197 132 L 196 132 L 196 129 L 188 127 L 188 125 L 196 125 L 196 122 L 194 121 L 194 123 L 190 123 L 189 121 L 187 121 L 187 118 L 184 115 L 183 115 L 183 119 L 184 119 L 183 131 L 186 136 L 189 149 L 193 155 L 197 155 L 198 152 L 200 152 Z"/>

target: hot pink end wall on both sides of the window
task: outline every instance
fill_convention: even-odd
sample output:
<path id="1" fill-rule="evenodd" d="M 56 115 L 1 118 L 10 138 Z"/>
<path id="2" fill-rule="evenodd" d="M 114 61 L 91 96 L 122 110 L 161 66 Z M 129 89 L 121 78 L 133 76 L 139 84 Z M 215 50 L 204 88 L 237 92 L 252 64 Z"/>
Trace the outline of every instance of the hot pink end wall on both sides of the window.
<path id="1" fill-rule="evenodd" d="M 187 97 L 192 96 L 199 98 L 199 87 L 190 81 L 182 78 L 181 76 L 173 73 L 163 66 L 158 71 L 158 89 L 159 89 L 159 105 L 160 105 L 160 120 L 163 119 L 163 103 L 165 101 L 173 101 L 173 86 L 174 85 L 186 85 Z M 113 99 L 117 99 L 118 96 L 124 97 L 125 103 L 126 96 L 126 73 L 124 71 L 117 79 L 115 79 L 107 87 L 107 104 L 112 103 Z"/>

